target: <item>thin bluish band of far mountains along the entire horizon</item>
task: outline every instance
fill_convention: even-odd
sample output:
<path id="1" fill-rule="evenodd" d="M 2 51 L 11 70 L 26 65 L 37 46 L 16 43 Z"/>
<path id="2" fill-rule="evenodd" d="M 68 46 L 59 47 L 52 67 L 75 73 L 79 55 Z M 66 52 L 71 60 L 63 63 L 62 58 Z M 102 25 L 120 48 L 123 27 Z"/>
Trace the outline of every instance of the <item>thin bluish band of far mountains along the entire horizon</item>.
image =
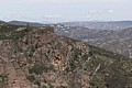
<path id="1" fill-rule="evenodd" d="M 0 22 L 6 22 L 0 20 Z M 132 28 L 132 21 L 88 21 L 88 22 L 61 22 L 61 23 L 38 23 L 38 22 L 26 22 L 26 21 L 10 21 L 6 22 L 13 25 L 26 25 L 28 23 L 31 26 L 44 26 L 44 25 L 55 25 L 55 24 L 65 24 L 69 26 L 84 26 L 89 29 L 98 30 L 121 30 L 125 28 Z"/>

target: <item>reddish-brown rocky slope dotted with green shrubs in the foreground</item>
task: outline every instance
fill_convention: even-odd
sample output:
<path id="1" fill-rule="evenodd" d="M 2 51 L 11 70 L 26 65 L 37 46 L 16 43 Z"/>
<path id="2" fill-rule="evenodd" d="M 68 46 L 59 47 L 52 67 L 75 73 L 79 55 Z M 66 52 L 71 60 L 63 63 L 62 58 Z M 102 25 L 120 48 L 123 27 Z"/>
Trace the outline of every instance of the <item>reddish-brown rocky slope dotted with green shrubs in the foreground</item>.
<path id="1" fill-rule="evenodd" d="M 57 36 L 51 26 L 0 42 L 1 88 L 131 88 L 132 61 Z"/>

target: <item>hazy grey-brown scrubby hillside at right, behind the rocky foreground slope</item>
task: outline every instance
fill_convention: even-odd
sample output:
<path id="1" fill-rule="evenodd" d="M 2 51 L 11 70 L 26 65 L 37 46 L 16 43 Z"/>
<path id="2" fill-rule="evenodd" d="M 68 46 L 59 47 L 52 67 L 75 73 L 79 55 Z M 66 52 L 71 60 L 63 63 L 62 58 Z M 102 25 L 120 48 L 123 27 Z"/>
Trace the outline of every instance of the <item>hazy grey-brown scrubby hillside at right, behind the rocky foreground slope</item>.
<path id="1" fill-rule="evenodd" d="M 90 45 L 132 58 L 132 28 L 99 30 L 58 24 L 55 29 L 57 35 L 82 41 Z"/>

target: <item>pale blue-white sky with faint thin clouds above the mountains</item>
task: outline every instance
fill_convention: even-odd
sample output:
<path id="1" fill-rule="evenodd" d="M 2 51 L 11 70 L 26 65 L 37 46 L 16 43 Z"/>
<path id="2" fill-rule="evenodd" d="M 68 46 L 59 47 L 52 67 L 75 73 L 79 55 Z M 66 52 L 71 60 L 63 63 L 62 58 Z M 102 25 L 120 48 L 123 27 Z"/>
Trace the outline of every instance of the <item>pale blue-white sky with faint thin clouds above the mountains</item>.
<path id="1" fill-rule="evenodd" d="M 130 21 L 131 9 L 132 0 L 0 0 L 0 20 Z"/>

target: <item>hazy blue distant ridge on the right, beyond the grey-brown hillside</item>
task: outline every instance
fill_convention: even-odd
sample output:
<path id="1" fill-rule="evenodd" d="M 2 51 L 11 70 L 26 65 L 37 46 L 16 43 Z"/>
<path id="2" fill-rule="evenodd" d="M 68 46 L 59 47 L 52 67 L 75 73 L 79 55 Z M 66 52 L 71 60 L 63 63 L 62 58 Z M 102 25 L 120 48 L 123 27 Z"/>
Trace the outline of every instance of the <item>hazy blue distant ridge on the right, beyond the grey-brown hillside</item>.
<path id="1" fill-rule="evenodd" d="M 132 28 L 132 21 L 108 21 L 108 22 L 64 22 L 61 24 L 69 25 L 69 26 L 84 26 L 89 29 L 98 29 L 98 30 L 121 30 L 125 28 Z"/>

